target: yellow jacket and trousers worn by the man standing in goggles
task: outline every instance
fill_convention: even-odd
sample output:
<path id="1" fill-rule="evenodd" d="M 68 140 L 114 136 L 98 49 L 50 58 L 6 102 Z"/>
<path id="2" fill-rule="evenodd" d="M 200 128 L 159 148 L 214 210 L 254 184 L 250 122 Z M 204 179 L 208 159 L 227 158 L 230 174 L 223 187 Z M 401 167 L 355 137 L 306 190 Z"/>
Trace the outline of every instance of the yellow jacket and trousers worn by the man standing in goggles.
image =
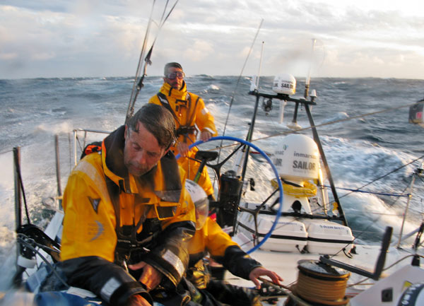
<path id="1" fill-rule="evenodd" d="M 163 105 L 170 110 L 177 126 L 178 141 L 191 145 L 196 142 L 197 131 L 203 130 L 210 131 L 212 136 L 218 135 L 213 116 L 205 107 L 204 100 L 194 93 L 189 93 L 185 81 L 180 90 L 172 88 L 168 83 L 163 83 L 159 93 L 153 95 L 148 102 Z M 179 153 L 175 146 L 171 148 L 171 151 L 175 155 Z M 194 158 L 197 151 L 197 148 L 192 148 L 188 156 Z M 184 157 L 179 158 L 177 162 L 187 172 L 187 178 L 193 180 L 199 169 L 199 163 Z M 198 184 L 203 187 L 206 194 L 213 194 L 213 187 L 206 168 L 204 168 Z"/>

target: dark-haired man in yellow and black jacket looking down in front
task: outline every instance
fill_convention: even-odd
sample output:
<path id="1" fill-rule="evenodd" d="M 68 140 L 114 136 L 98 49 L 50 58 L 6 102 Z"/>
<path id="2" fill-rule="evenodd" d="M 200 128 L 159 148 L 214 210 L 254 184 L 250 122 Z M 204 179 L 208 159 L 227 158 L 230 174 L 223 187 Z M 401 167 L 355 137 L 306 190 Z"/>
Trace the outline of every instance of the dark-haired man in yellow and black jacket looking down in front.
<path id="1" fill-rule="evenodd" d="M 73 169 L 61 242 L 71 286 L 108 305 L 144 306 L 159 284 L 179 283 L 195 214 L 185 172 L 169 152 L 174 131 L 170 112 L 144 105 Z"/>

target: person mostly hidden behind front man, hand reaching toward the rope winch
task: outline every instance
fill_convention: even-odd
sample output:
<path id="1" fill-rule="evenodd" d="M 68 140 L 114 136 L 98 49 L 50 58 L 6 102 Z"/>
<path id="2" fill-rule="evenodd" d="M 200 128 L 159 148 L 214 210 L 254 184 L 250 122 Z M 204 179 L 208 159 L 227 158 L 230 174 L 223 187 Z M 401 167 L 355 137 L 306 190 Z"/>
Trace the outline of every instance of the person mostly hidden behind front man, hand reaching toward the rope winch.
<path id="1" fill-rule="evenodd" d="M 209 304 L 206 300 L 217 300 L 225 305 L 261 305 L 259 295 L 249 288 L 232 286 L 224 281 L 211 280 L 208 264 L 204 260 L 206 256 L 223 264 L 235 276 L 251 280 L 257 289 L 261 288 L 259 276 L 268 276 L 273 283 L 283 281 L 277 273 L 264 268 L 264 266 L 244 252 L 230 235 L 208 217 L 208 199 L 203 190 L 191 180 L 186 180 L 186 189 L 196 206 L 196 234 L 189 241 L 189 269 L 187 279 L 202 293 L 197 300 L 201 305 Z M 196 300 L 196 298 L 194 298 Z"/>

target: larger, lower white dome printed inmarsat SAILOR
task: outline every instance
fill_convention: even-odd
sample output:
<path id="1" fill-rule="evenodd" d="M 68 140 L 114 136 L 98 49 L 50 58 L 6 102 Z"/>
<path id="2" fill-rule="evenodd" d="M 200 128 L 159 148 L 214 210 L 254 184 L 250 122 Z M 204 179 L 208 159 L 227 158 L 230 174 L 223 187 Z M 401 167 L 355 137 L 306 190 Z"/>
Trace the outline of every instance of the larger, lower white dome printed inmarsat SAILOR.
<path id="1" fill-rule="evenodd" d="M 309 136 L 291 134 L 278 144 L 273 163 L 284 180 L 302 184 L 319 177 L 319 151 Z"/>

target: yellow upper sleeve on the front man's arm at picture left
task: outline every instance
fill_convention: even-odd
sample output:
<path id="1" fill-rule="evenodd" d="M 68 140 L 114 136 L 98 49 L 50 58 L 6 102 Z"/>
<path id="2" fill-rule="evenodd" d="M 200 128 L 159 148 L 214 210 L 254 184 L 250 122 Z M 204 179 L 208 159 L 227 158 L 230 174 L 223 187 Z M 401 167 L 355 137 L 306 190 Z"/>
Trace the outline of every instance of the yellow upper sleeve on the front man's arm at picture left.
<path id="1" fill-rule="evenodd" d="M 104 179 L 95 165 L 87 161 L 93 155 L 97 154 L 90 154 L 78 163 L 66 184 L 62 201 L 65 213 L 62 260 L 98 256 L 114 261 L 117 244 L 114 208 Z"/>

